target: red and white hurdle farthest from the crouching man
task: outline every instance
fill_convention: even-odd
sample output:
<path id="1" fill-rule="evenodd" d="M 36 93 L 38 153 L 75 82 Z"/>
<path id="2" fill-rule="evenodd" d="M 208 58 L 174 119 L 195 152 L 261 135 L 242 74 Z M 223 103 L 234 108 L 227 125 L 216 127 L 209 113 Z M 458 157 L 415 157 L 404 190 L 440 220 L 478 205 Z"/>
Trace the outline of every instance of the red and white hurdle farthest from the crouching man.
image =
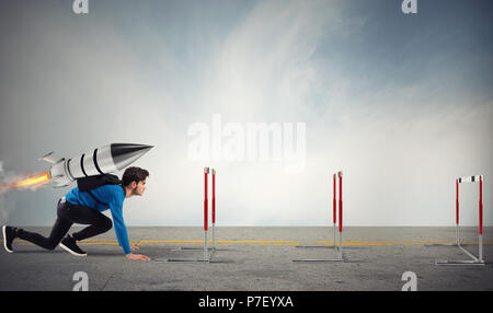
<path id="1" fill-rule="evenodd" d="M 478 225 L 478 245 L 479 255 L 478 257 L 469 252 L 460 243 L 460 230 L 459 230 L 459 184 L 461 183 L 475 183 L 479 182 L 479 225 Z M 456 179 L 456 242 L 452 244 L 426 244 L 425 246 L 457 246 L 470 259 L 457 260 L 435 260 L 435 265 L 484 265 L 483 259 L 483 175 L 466 176 Z"/>

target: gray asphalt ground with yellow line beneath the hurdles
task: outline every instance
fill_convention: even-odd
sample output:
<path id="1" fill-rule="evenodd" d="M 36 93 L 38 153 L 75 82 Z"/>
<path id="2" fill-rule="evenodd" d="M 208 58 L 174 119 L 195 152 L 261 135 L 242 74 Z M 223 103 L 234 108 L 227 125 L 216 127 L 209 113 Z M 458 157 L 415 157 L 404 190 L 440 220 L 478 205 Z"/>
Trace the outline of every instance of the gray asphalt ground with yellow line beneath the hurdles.
<path id="1" fill-rule="evenodd" d="M 48 235 L 50 228 L 25 228 Z M 469 231 L 469 230 L 468 230 Z M 131 244 L 151 262 L 127 260 L 114 231 L 83 241 L 87 257 L 57 247 L 44 251 L 16 240 L 14 253 L 0 252 L 0 290 L 70 291 L 73 274 L 88 274 L 91 291 L 399 291 L 405 271 L 417 275 L 417 290 L 493 290 L 493 228 L 483 232 L 484 266 L 436 266 L 435 259 L 468 259 L 452 243 L 455 228 L 344 229 L 344 263 L 297 263 L 331 258 L 331 248 L 298 248 L 299 244 L 332 245 L 332 228 L 216 229 L 210 263 L 159 263 L 156 259 L 203 257 L 200 228 L 129 228 Z M 208 232 L 211 240 L 211 231 Z M 463 234 L 473 239 L 474 230 Z M 210 245 L 211 243 L 209 243 Z M 468 244 L 477 254 L 478 245 Z"/>

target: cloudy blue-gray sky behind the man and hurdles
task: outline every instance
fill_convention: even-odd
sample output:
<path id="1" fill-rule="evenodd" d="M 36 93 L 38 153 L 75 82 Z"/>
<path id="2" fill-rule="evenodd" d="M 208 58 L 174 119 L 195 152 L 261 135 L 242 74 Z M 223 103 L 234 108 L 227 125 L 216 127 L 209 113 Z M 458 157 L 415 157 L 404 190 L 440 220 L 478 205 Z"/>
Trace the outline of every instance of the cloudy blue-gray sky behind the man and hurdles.
<path id="1" fill-rule="evenodd" d="M 128 225 L 199 225 L 203 167 L 218 225 L 332 222 L 344 172 L 349 225 L 449 225 L 455 178 L 492 201 L 491 1 L 2 1 L 0 175 L 38 173 L 111 142 L 156 146 Z M 194 123 L 306 125 L 302 171 L 283 161 L 192 160 Z M 461 186 L 462 187 L 462 186 Z M 477 223 L 478 185 L 461 188 Z M 2 223 L 51 225 L 69 188 L 0 195 Z M 469 207 L 468 207 L 469 206 Z"/>

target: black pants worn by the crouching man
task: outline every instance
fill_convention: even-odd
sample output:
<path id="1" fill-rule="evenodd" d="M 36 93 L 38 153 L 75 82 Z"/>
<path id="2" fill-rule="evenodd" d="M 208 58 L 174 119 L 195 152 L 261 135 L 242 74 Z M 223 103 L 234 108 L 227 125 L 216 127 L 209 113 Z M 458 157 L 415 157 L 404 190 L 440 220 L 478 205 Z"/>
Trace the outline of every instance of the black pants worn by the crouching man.
<path id="1" fill-rule="evenodd" d="M 91 208 L 72 205 L 61 198 L 58 200 L 57 220 L 49 237 L 23 229 L 19 229 L 18 236 L 41 247 L 54 250 L 73 223 L 90 224 L 90 227 L 72 234 L 72 237 L 77 241 L 107 232 L 113 227 L 112 220 L 103 213 Z"/>

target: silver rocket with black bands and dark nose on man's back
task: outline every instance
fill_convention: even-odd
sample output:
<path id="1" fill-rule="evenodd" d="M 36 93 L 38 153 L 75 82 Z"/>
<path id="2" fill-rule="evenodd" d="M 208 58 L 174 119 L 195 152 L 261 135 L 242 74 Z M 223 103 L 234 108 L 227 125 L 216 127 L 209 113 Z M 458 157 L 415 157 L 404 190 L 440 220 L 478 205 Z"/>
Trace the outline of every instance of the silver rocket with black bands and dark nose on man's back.
<path id="1" fill-rule="evenodd" d="M 56 184 L 55 187 L 64 187 L 77 178 L 123 170 L 151 148 L 153 146 L 111 143 L 68 160 L 54 156 L 54 152 L 39 158 L 39 160 L 54 164 L 49 169 L 49 181 Z"/>

